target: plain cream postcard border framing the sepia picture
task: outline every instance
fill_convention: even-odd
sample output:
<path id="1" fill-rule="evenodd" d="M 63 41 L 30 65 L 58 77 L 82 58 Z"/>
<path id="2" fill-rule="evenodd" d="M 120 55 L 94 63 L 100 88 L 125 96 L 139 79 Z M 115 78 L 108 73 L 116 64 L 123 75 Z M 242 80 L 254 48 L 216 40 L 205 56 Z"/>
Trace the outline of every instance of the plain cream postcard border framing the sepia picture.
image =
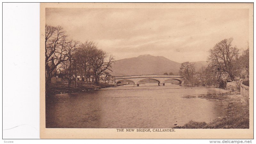
<path id="1" fill-rule="evenodd" d="M 45 8 L 246 8 L 249 9 L 250 128 L 175 129 L 176 132 L 117 132 L 108 128 L 45 128 Z M 251 15 L 250 15 L 251 16 Z M 40 138 L 41 139 L 253 139 L 253 3 L 41 3 L 40 4 Z"/>

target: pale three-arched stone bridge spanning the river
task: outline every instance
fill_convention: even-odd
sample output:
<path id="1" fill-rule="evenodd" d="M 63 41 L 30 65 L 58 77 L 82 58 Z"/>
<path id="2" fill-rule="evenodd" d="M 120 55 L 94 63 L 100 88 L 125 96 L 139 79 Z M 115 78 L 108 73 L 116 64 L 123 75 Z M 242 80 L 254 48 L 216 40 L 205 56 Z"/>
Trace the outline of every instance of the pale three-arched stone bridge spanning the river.
<path id="1" fill-rule="evenodd" d="M 116 76 L 115 77 L 115 85 L 117 85 L 118 82 L 127 80 L 134 83 L 134 85 L 139 86 L 140 81 L 145 79 L 151 79 L 156 80 L 158 82 L 158 85 L 163 85 L 165 81 L 174 79 L 179 81 L 180 85 L 183 83 L 183 80 L 181 79 L 181 76 L 166 76 L 166 75 L 140 75 L 140 76 Z"/>

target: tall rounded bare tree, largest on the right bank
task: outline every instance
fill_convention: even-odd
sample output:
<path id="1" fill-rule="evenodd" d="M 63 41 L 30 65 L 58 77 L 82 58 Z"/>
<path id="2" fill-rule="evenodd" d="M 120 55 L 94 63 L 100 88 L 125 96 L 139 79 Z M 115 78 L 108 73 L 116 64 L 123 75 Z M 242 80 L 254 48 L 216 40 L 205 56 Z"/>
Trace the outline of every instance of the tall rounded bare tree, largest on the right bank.
<path id="1" fill-rule="evenodd" d="M 240 62 L 238 62 L 239 50 L 232 47 L 233 38 L 224 39 L 217 43 L 208 56 L 208 62 L 213 72 L 228 74 L 228 77 L 234 81 L 239 75 Z"/>

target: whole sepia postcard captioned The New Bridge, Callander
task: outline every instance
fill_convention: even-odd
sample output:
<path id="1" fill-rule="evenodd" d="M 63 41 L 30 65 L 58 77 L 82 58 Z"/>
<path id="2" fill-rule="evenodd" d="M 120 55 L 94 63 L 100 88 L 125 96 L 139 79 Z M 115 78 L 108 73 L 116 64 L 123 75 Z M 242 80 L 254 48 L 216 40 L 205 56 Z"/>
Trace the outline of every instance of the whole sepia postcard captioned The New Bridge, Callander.
<path id="1" fill-rule="evenodd" d="M 40 5 L 42 138 L 253 137 L 253 3 Z"/>

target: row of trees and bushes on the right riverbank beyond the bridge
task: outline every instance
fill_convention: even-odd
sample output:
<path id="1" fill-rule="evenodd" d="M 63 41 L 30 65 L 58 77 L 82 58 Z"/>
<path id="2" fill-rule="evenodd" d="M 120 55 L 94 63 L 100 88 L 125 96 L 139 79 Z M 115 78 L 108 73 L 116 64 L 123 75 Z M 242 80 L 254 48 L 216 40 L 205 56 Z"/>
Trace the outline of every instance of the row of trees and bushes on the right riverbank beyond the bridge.
<path id="1" fill-rule="evenodd" d="M 179 75 L 184 83 L 198 86 L 211 86 L 235 81 L 236 77 L 249 78 L 249 46 L 240 53 L 232 46 L 233 38 L 221 40 L 210 49 L 207 58 L 208 66 L 195 70 L 195 64 L 183 62 Z"/>

